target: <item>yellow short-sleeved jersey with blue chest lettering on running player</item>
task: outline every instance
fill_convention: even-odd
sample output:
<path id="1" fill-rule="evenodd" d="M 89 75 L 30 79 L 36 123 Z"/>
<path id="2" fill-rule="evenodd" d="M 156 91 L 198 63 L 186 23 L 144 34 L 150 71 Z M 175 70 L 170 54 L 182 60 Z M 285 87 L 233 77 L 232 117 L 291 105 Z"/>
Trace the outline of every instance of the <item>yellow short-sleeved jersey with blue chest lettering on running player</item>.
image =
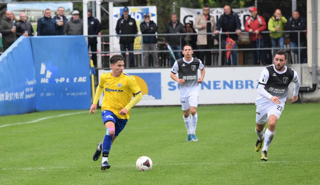
<path id="1" fill-rule="evenodd" d="M 123 73 L 119 77 L 113 77 L 111 73 L 104 72 L 100 76 L 99 86 L 104 89 L 101 110 L 109 110 L 120 119 L 129 119 L 130 110 L 125 115 L 120 115 L 119 112 L 129 104 L 133 94 L 139 94 L 141 89 L 133 76 Z"/>

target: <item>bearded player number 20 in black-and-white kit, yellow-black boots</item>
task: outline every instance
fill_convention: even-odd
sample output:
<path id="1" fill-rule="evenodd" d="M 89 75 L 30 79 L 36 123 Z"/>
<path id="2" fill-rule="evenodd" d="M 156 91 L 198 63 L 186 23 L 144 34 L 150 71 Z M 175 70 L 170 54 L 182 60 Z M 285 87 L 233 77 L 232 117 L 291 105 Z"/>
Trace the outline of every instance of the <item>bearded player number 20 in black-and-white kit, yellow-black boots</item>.
<path id="1" fill-rule="evenodd" d="M 264 144 L 261 152 L 261 160 L 267 161 L 267 151 L 275 135 L 276 122 L 280 118 L 284 109 L 284 102 L 287 99 L 289 84 L 293 85 L 293 96 L 291 102 L 298 100 L 300 80 L 297 72 L 286 67 L 286 52 L 279 50 L 276 52 L 273 65 L 263 69 L 258 85 L 259 96 L 256 99 L 256 133 L 258 140 L 255 151 L 258 152 Z M 268 128 L 264 133 L 264 127 L 268 121 Z"/>

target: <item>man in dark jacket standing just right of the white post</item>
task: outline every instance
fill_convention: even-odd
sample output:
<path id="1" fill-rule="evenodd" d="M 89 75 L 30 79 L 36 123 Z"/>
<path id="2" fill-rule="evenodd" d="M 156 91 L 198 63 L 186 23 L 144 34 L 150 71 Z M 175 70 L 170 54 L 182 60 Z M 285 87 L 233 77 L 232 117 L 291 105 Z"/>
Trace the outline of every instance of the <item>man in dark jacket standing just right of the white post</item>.
<path id="1" fill-rule="evenodd" d="M 101 25 L 97 18 L 92 17 L 92 10 L 88 10 L 88 35 L 99 35 Z M 92 52 L 97 52 L 97 37 L 88 37 L 88 50 L 91 47 Z M 92 61 L 97 66 L 97 54 L 92 54 Z"/>

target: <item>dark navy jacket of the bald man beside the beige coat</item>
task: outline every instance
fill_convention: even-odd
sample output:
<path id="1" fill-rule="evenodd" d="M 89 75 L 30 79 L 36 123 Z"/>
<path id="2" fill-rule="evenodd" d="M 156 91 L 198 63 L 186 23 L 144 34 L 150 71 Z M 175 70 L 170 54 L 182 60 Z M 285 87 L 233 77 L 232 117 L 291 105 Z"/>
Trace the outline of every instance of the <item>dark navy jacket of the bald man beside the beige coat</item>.
<path id="1" fill-rule="evenodd" d="M 235 32 L 237 29 L 241 30 L 241 22 L 238 14 L 234 13 L 232 10 L 230 15 L 223 13 L 217 21 L 217 30 L 220 30 L 221 28 L 222 32 Z M 226 34 L 221 35 L 221 39 L 226 40 L 226 38 Z M 238 35 L 230 34 L 230 38 L 236 41 L 238 40 Z"/>

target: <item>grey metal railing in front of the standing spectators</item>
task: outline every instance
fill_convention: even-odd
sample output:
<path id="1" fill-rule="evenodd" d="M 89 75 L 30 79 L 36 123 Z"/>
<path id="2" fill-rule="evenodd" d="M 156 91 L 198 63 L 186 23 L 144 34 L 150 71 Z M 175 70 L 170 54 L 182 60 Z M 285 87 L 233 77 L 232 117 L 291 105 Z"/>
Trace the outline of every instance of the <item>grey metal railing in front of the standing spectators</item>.
<path id="1" fill-rule="evenodd" d="M 298 47 L 263 47 L 261 48 L 260 47 L 260 39 L 259 40 L 259 47 L 257 48 L 235 48 L 235 49 L 223 49 L 222 46 L 221 46 L 221 35 L 222 34 L 236 34 L 236 32 L 219 32 L 218 37 L 218 41 L 219 41 L 219 49 L 195 49 L 193 51 L 197 52 L 197 51 L 208 51 L 208 52 L 213 52 L 213 51 L 216 51 L 216 52 L 219 52 L 219 60 L 218 60 L 218 65 L 220 66 L 221 65 L 221 55 L 222 55 L 222 52 L 223 51 L 260 51 L 260 50 L 273 50 L 273 49 L 298 49 L 298 62 L 300 63 L 300 50 L 301 49 L 306 49 L 307 47 L 304 46 L 304 47 L 301 47 L 300 46 L 300 33 L 301 32 L 306 32 L 306 30 L 292 30 L 292 31 L 276 31 L 277 33 L 297 33 L 298 34 Z M 243 34 L 243 33 L 248 33 L 248 32 L 242 32 L 240 34 Z M 254 32 L 253 32 L 254 33 Z M 263 32 L 260 32 L 258 34 L 258 38 L 260 38 L 260 35 L 263 34 L 263 33 L 271 33 L 271 31 L 263 31 Z M 250 33 L 249 33 L 250 34 Z M 141 37 L 141 50 L 134 50 L 134 51 L 113 51 L 113 52 L 110 52 L 110 51 L 104 51 L 104 46 L 102 47 L 103 48 L 103 51 L 101 52 L 89 52 L 89 54 L 112 54 L 112 53 L 123 53 L 123 52 L 126 52 L 126 53 L 141 53 L 141 65 L 143 64 L 143 55 L 144 53 L 152 53 L 152 52 L 156 52 L 156 53 L 168 53 L 168 52 L 171 52 L 169 50 L 154 50 L 154 51 L 147 51 L 147 50 L 143 50 L 143 36 L 156 36 L 156 37 L 165 37 L 165 36 L 176 36 L 176 35 L 179 35 L 180 37 L 180 47 L 182 48 L 182 37 L 183 36 L 187 36 L 187 35 L 214 35 L 214 33 L 161 33 L 161 34 L 127 34 L 127 35 L 88 35 L 86 37 L 126 37 L 126 36 L 129 36 L 129 37 Z M 217 37 L 216 35 L 216 37 Z M 250 36 L 249 36 L 250 37 Z M 104 39 L 102 41 L 104 43 Z M 113 43 L 111 43 L 113 44 Z M 182 50 L 172 50 L 172 52 L 182 52 Z M 204 61 L 203 61 L 204 62 Z M 144 66 L 145 67 L 145 66 Z"/>

